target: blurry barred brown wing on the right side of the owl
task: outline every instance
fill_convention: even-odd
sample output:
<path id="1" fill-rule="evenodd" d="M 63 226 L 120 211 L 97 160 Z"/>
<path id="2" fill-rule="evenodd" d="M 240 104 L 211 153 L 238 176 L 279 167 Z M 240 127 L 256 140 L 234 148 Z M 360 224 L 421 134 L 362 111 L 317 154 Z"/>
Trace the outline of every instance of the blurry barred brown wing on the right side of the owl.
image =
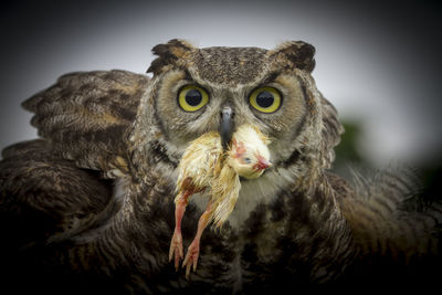
<path id="1" fill-rule="evenodd" d="M 354 179 L 355 193 L 343 199 L 341 207 L 361 255 L 376 253 L 407 265 L 438 253 L 434 230 L 442 222 L 441 204 L 407 210 L 407 203 L 419 202 L 422 187 L 413 168 L 390 164 L 371 178 L 354 172 Z"/>

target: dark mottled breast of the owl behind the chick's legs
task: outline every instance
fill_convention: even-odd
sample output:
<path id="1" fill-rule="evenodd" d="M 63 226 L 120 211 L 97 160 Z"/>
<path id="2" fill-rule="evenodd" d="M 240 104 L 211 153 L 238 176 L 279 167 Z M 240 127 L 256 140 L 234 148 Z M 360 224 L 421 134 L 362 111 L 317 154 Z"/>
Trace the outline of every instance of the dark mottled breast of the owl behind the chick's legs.
<path id="1" fill-rule="evenodd" d="M 173 186 L 161 183 L 159 178 L 156 180 L 158 182 L 152 181 L 148 187 L 130 188 L 130 191 L 140 190 L 138 196 L 130 197 L 131 214 L 124 217 L 119 213 L 97 239 L 62 252 L 61 261 L 66 267 L 74 265 L 77 271 L 102 275 L 104 267 L 105 274 L 114 280 L 138 282 L 131 284 L 136 292 L 183 288 L 233 292 L 236 285 L 239 289 L 252 293 L 274 286 L 283 291 L 288 277 L 292 277 L 291 284 L 293 280 L 299 280 L 296 281 L 299 287 L 328 282 L 339 276 L 354 256 L 350 232 L 346 230 L 334 198 L 327 197 L 333 191 L 332 186 L 324 186 L 309 199 L 293 188 L 292 191 L 282 191 L 269 208 L 259 207 L 243 232 L 235 232 L 229 225 L 221 231 L 207 232 L 202 243 L 204 240 L 210 243 L 201 252 L 199 272 L 192 274 L 191 282 L 188 282 L 175 274 L 171 265 L 168 267 L 167 251 L 164 249 L 164 243 L 170 238 L 165 233 L 173 226 L 170 209 Z M 165 188 L 168 189 L 165 191 Z M 281 207 L 291 210 L 281 211 Z M 166 219 L 165 213 L 168 213 Z M 192 221 L 198 220 L 198 211 L 192 206 L 188 213 L 189 222 L 182 229 L 185 243 L 190 243 L 196 226 Z M 145 231 L 143 224 L 146 222 L 156 230 Z M 219 247 L 223 250 L 221 253 Z M 127 249 L 130 251 L 127 252 Z M 122 256 L 122 253 L 125 254 Z M 282 261 L 284 266 L 278 267 Z M 312 263 L 315 261 L 317 263 Z M 99 268 L 96 265 L 101 265 Z M 260 272 L 256 273 L 256 270 Z M 130 278 L 120 276 L 125 272 Z"/>

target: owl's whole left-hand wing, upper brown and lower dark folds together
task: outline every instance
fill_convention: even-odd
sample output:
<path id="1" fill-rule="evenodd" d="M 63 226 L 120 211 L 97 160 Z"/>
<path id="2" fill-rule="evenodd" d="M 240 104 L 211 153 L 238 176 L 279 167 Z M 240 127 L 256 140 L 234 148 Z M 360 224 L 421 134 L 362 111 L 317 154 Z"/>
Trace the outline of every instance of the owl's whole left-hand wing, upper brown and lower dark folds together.
<path id="1" fill-rule="evenodd" d="M 78 72 L 23 103 L 43 138 L 2 151 L 0 232 L 12 245 L 65 240 L 116 212 L 103 176 L 127 169 L 125 137 L 148 83 L 124 71 Z"/>

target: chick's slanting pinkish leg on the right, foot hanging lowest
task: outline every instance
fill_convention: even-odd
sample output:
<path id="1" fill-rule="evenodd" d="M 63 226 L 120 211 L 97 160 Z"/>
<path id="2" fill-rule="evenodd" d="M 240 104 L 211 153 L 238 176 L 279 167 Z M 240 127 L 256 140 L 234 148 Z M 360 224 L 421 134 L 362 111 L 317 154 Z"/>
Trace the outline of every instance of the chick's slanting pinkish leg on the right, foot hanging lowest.
<path id="1" fill-rule="evenodd" d="M 198 256 L 200 254 L 200 240 L 202 232 L 204 231 L 209 222 L 211 206 L 212 201 L 210 200 L 206 208 L 206 211 L 201 214 L 198 221 L 197 234 L 194 235 L 192 243 L 189 245 L 186 253 L 186 259 L 182 262 L 182 267 L 186 266 L 186 278 L 189 278 L 191 266 L 193 266 L 193 272 L 197 270 Z"/>

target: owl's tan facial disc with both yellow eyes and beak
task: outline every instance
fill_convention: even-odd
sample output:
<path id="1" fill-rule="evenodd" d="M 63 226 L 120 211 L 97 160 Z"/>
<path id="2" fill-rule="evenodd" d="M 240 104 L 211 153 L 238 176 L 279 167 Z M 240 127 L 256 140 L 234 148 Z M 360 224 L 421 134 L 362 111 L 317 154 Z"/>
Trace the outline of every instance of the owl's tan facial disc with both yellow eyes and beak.
<path id="1" fill-rule="evenodd" d="M 208 131 L 218 131 L 227 150 L 232 133 L 244 124 L 272 138 L 269 149 L 275 168 L 293 158 L 307 114 L 306 93 L 297 75 L 266 72 L 255 82 L 232 86 L 211 82 L 190 67 L 158 78 L 155 112 L 168 158 L 179 159 L 189 143 Z"/>

